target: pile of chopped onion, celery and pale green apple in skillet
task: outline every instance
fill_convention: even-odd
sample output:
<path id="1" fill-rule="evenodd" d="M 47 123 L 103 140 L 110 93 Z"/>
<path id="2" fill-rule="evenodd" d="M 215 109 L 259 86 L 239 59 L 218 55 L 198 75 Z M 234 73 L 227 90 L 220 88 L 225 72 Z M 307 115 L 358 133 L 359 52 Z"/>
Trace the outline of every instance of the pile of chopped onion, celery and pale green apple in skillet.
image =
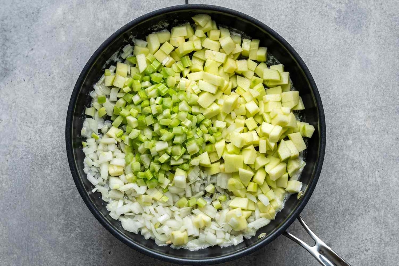
<path id="1" fill-rule="evenodd" d="M 125 230 L 191 250 L 237 245 L 302 190 L 304 109 L 256 39 L 192 17 L 134 40 L 91 92 L 87 179 Z M 91 118 L 90 118 L 91 117 Z"/>

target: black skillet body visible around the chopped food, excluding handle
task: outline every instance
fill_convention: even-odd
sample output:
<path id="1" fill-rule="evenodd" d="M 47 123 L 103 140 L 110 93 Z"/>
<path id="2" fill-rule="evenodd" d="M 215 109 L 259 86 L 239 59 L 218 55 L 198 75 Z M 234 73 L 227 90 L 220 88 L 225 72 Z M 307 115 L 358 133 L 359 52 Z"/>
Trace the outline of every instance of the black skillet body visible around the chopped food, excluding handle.
<path id="1" fill-rule="evenodd" d="M 107 64 L 107 60 L 127 43 L 132 44 L 131 36 L 145 39 L 146 35 L 154 31 L 154 24 L 166 22 L 168 24 L 166 28 L 170 30 L 171 27 L 183 22 L 192 22 L 191 17 L 199 13 L 211 15 L 218 25 L 236 28 L 252 38 L 260 39 L 261 46 L 268 47 L 268 51 L 285 65 L 286 71 L 290 72 L 293 84 L 299 90 L 306 107 L 301 112 L 306 115 L 306 122 L 315 126 L 316 131 L 308 142 L 306 167 L 301 177 L 301 181 L 307 187 L 301 200 L 298 201 L 296 197 L 290 197 L 285 208 L 278 213 L 274 221 L 260 229 L 255 237 L 245 240 L 237 246 L 212 247 L 191 252 L 184 249 L 171 249 L 168 246 L 160 247 L 153 240 L 144 240 L 141 235 L 125 231 L 119 221 L 113 220 L 108 215 L 100 194 L 91 192 L 92 185 L 87 181 L 83 172 L 84 154 L 81 142 L 84 139 L 80 137 L 80 130 L 84 120 L 84 108 L 90 104 L 91 98 L 88 95 L 93 84 L 102 75 L 104 67 L 109 67 L 112 64 L 112 62 Z M 71 173 L 83 200 L 95 217 L 118 239 L 140 252 L 174 263 L 220 263 L 267 245 L 299 215 L 316 185 L 323 162 L 324 113 L 316 85 L 304 62 L 293 48 L 272 29 L 250 16 L 226 8 L 209 5 L 174 6 L 149 13 L 130 22 L 107 39 L 93 54 L 84 67 L 71 97 L 66 121 L 66 145 Z M 263 232 L 266 232 L 267 236 L 258 240 L 257 236 Z"/>

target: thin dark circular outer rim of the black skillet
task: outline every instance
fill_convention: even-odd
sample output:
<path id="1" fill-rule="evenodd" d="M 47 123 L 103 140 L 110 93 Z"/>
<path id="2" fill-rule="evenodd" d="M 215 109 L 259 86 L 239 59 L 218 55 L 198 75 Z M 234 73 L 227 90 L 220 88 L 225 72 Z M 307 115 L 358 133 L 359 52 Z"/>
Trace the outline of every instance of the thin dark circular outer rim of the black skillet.
<path id="1" fill-rule="evenodd" d="M 266 238 L 264 238 L 263 240 L 255 243 L 249 247 L 246 247 L 242 250 L 236 251 L 231 254 L 221 255 L 218 257 L 200 258 L 200 259 L 181 258 L 181 257 L 172 256 L 172 255 L 158 253 L 154 250 L 151 250 L 151 249 L 149 249 L 143 245 L 140 245 L 139 243 L 136 243 L 133 240 L 125 237 L 116 228 L 114 228 L 107 221 L 107 219 L 105 219 L 105 217 L 100 213 L 100 211 L 97 209 L 95 204 L 90 200 L 88 191 L 86 191 L 83 183 L 81 182 L 81 179 L 79 178 L 76 161 L 75 161 L 75 157 L 74 157 L 74 152 L 73 152 L 73 143 L 72 143 L 72 122 L 73 122 L 73 114 L 74 114 L 77 97 L 78 97 L 80 88 L 83 86 L 83 83 L 84 83 L 84 80 L 85 80 L 87 74 L 91 70 L 92 65 L 95 63 L 98 56 L 114 40 L 116 40 L 121 34 L 123 34 L 125 31 L 129 30 L 134 25 L 139 24 L 151 17 L 161 15 L 164 13 L 182 11 L 182 10 L 191 10 L 191 9 L 218 11 L 218 12 L 223 12 L 223 13 L 227 13 L 230 15 L 240 17 L 240 18 L 245 19 L 245 20 L 251 22 L 252 24 L 262 28 L 263 30 L 267 31 L 277 41 L 279 41 L 285 47 L 285 49 L 287 49 L 288 52 L 293 56 L 293 58 L 297 61 L 298 65 L 300 66 L 302 71 L 304 71 L 304 74 L 309 81 L 310 88 L 311 88 L 313 95 L 316 99 L 316 105 L 317 105 L 317 109 L 318 109 L 318 119 L 319 119 L 319 134 L 320 134 L 319 155 L 318 155 L 318 160 L 317 160 L 317 162 L 315 164 L 315 168 L 314 168 L 314 177 L 313 177 L 312 181 L 308 184 L 307 192 L 304 194 L 303 198 L 301 199 L 301 203 L 298 205 L 297 208 L 294 209 L 294 211 L 291 213 L 291 215 L 286 218 L 286 220 L 282 223 L 282 225 L 277 230 L 275 230 L 273 233 L 271 233 Z M 295 221 L 295 219 L 299 216 L 299 214 L 301 213 L 301 211 L 303 210 L 303 208 L 309 201 L 309 199 L 316 187 L 316 183 L 317 183 L 320 173 L 321 173 L 323 160 L 324 160 L 325 145 L 326 145 L 325 144 L 326 143 L 326 125 L 325 125 L 325 118 L 324 118 L 324 110 L 323 110 L 320 94 L 317 89 L 316 83 L 315 83 L 308 67 L 302 60 L 302 58 L 298 55 L 298 53 L 294 50 L 294 48 L 283 37 L 281 37 L 277 32 L 275 32 L 273 29 L 271 29 L 264 23 L 260 22 L 259 20 L 255 19 L 249 15 L 246 15 L 244 13 L 241 13 L 241 12 L 229 9 L 229 8 L 225 8 L 225 7 L 220 7 L 220 6 L 204 5 L 204 4 L 190 4 L 190 5 L 177 5 L 177 6 L 166 7 L 166 8 L 158 9 L 158 10 L 152 11 L 150 13 L 144 14 L 144 15 L 130 21 L 126 25 L 122 26 L 120 29 L 118 29 L 116 32 L 114 32 L 110 37 L 108 37 L 100 45 L 100 47 L 93 53 L 93 55 L 90 57 L 90 59 L 85 64 L 82 72 L 80 73 L 80 75 L 76 81 L 74 89 L 72 91 L 72 95 L 71 95 L 70 102 L 68 105 L 67 117 L 66 117 L 65 142 L 66 142 L 66 151 L 67 151 L 67 156 L 68 156 L 69 167 L 70 167 L 73 180 L 74 180 L 75 185 L 79 191 L 80 196 L 82 197 L 84 203 L 87 205 L 87 207 L 89 208 L 91 213 L 94 215 L 94 217 L 112 235 L 114 235 L 121 242 L 123 242 L 127 246 L 135 249 L 136 251 L 139 251 L 147 256 L 153 257 L 158 260 L 162 260 L 162 261 L 166 261 L 166 262 L 170 262 L 170 263 L 177 263 L 177 264 L 206 265 L 206 264 L 218 264 L 218 263 L 228 262 L 228 261 L 237 259 L 239 257 L 246 256 L 256 250 L 259 250 L 260 248 L 262 248 L 262 247 L 266 246 L 267 244 L 269 244 L 270 242 L 272 242 L 279 235 L 281 235 Z"/>

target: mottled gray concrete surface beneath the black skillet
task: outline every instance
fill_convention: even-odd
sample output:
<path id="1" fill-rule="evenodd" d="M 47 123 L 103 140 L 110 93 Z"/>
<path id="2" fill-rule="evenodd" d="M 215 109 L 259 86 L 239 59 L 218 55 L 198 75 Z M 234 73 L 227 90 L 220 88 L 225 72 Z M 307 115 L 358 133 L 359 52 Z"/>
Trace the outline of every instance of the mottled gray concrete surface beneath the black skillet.
<path id="1" fill-rule="evenodd" d="M 95 49 L 128 21 L 183 2 L 1 1 L 1 265 L 161 265 L 115 239 L 84 205 L 67 163 L 64 121 Z M 397 265 L 398 2 L 190 2 L 247 13 L 297 50 L 319 87 L 327 123 L 323 171 L 303 217 L 352 265 Z M 298 223 L 290 231 L 305 237 Z M 225 265 L 318 263 L 281 236 Z"/>

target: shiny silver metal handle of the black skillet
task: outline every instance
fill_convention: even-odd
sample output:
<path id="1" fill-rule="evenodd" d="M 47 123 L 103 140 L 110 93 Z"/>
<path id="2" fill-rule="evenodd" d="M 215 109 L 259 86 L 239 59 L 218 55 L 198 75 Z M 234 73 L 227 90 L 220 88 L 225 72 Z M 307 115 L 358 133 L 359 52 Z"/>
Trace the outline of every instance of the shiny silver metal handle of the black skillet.
<path id="1" fill-rule="evenodd" d="M 337 253 L 335 253 L 329 246 L 327 246 L 321 239 L 319 239 L 315 233 L 308 227 L 305 221 L 302 219 L 301 216 L 298 216 L 298 220 L 309 234 L 312 239 L 315 241 L 314 246 L 309 246 L 304 241 L 300 240 L 299 238 L 295 237 L 291 233 L 284 231 L 283 235 L 287 238 L 295 241 L 299 245 L 301 245 L 305 250 L 310 252 L 316 260 L 323 266 L 351 266 L 349 263 L 344 261 Z"/>

